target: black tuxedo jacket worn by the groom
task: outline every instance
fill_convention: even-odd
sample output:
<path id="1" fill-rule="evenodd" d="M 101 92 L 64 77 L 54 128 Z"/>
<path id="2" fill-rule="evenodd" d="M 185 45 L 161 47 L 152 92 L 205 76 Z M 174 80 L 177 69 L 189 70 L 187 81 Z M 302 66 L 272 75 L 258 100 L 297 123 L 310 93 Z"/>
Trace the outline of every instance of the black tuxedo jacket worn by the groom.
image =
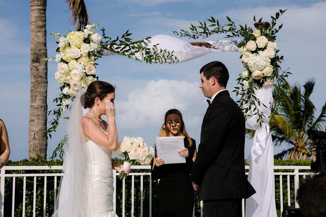
<path id="1" fill-rule="evenodd" d="M 245 176 L 244 140 L 244 115 L 223 90 L 207 108 L 192 166 L 199 200 L 248 198 L 255 193 Z"/>

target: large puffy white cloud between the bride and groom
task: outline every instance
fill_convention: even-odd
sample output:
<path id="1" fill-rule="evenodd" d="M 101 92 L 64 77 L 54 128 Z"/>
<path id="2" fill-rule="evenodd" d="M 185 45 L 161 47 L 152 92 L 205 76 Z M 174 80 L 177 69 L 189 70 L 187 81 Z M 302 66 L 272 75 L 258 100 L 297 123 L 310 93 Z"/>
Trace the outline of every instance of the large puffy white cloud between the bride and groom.
<path id="1" fill-rule="evenodd" d="M 167 110 L 177 108 L 188 117 L 185 120 L 192 125 L 199 120 L 197 103 L 203 100 L 197 83 L 152 80 L 146 87 L 132 90 L 126 101 L 117 99 L 117 120 L 123 129 L 151 128 L 163 124 Z"/>

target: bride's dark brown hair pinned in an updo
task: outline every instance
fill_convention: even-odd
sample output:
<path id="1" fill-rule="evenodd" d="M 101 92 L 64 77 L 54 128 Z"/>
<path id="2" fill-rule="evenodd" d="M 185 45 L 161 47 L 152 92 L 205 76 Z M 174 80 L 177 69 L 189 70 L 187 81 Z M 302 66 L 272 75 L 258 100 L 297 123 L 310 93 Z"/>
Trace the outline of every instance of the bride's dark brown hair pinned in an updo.
<path id="1" fill-rule="evenodd" d="M 96 97 L 103 101 L 109 93 L 114 93 L 115 88 L 115 85 L 113 86 L 105 81 L 93 81 L 81 97 L 81 101 L 85 99 L 84 108 L 92 108 Z"/>

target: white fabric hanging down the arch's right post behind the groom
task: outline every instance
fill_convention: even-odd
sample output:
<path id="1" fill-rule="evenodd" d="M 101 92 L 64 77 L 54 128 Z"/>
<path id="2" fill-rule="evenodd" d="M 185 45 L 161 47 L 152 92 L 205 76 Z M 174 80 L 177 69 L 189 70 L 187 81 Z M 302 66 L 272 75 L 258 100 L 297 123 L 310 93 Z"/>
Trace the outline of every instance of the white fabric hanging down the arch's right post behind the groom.
<path id="1" fill-rule="evenodd" d="M 248 181 L 256 190 L 256 194 L 246 199 L 246 217 L 276 217 L 275 190 L 274 190 L 274 152 L 268 118 L 271 114 L 269 108 L 273 102 L 272 87 L 255 90 L 261 103 L 258 109 L 265 115 L 264 123 L 257 123 L 258 115 L 247 118 L 250 128 L 256 129 L 254 142 L 251 147 L 247 163 L 250 165 Z M 252 110 L 248 114 L 252 114 Z"/>

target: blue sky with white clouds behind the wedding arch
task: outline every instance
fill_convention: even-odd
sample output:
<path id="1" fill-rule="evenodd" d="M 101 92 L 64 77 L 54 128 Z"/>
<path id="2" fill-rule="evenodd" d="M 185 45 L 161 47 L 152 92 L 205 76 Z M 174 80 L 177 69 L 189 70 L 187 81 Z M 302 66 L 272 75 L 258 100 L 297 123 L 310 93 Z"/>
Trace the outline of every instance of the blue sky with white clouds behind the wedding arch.
<path id="1" fill-rule="evenodd" d="M 188 29 L 213 16 L 226 23 L 226 16 L 235 23 L 253 27 L 256 20 L 270 21 L 279 9 L 288 9 L 279 19 L 283 28 L 277 36 L 279 54 L 285 61 L 283 70 L 293 73 L 290 84 L 304 84 L 316 78 L 311 95 L 317 112 L 326 101 L 324 53 L 326 35 L 326 1 L 276 0 L 276 1 L 213 1 L 213 0 L 85 0 L 92 23 L 99 23 L 106 34 L 122 35 L 129 30 L 133 40 L 157 34 L 174 36 L 172 30 Z M 50 32 L 67 34 L 70 12 L 64 0 L 47 2 L 48 57 L 55 56 L 57 44 Z M 0 0 L 0 35 L 2 38 L 0 61 L 0 118 L 4 120 L 11 148 L 11 160 L 28 158 L 28 120 L 30 93 L 30 4 L 28 0 Z M 101 33 L 100 30 L 97 31 Z M 223 40 L 224 35 L 214 35 L 208 40 Z M 187 42 L 194 42 L 181 38 Z M 204 41 L 204 40 L 197 40 Z M 185 120 L 188 134 L 200 142 L 200 126 L 207 108 L 206 98 L 200 91 L 200 68 L 211 61 L 221 61 L 229 69 L 230 92 L 236 86 L 239 73 L 243 72 L 238 52 L 213 53 L 198 59 L 174 65 L 150 65 L 128 60 L 122 56 L 103 57 L 97 61 L 96 75 L 100 80 L 117 85 L 116 124 L 119 141 L 124 136 L 141 136 L 148 145 L 154 144 L 164 114 L 170 108 L 179 109 Z M 56 62 L 48 63 L 48 109 L 55 106 L 60 85 L 54 80 Z M 237 100 L 235 94 L 231 95 Z M 49 117 L 49 121 L 52 118 Z M 48 141 L 48 157 L 66 132 L 66 120 Z M 245 158 L 252 141 L 246 140 Z M 287 148 L 274 147 L 274 153 Z"/>

